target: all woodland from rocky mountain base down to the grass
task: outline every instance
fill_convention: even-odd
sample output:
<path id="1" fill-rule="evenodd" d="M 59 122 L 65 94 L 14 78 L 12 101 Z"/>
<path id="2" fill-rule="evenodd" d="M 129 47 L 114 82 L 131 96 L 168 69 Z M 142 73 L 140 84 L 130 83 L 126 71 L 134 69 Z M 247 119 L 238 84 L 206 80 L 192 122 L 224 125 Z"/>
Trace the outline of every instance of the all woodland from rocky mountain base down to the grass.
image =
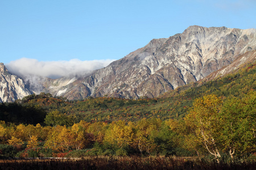
<path id="1" fill-rule="evenodd" d="M 2 103 L 0 155 L 212 155 L 220 162 L 226 154 L 233 161 L 256 152 L 255 79 L 250 64 L 158 99 L 67 101 L 42 93 Z"/>

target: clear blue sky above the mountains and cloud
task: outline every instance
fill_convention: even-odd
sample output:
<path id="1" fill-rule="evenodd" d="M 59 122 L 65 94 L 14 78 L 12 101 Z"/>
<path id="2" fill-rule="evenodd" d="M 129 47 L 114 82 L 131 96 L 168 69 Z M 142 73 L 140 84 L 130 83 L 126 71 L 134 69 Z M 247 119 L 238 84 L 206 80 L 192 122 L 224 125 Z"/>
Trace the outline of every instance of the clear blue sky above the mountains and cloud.
<path id="1" fill-rule="evenodd" d="M 0 62 L 107 65 L 189 25 L 256 28 L 256 0 L 1 0 Z"/>

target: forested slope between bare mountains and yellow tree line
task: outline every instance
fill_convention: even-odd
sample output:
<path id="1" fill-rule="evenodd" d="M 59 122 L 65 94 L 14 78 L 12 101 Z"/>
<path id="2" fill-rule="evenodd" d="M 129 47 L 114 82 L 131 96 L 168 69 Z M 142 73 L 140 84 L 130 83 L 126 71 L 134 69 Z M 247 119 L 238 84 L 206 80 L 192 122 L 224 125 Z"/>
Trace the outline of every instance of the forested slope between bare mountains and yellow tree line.
<path id="1" fill-rule="evenodd" d="M 176 88 L 157 99 L 117 99 L 89 97 L 82 101 L 67 101 L 50 94 L 30 95 L 15 103 L 0 104 L 1 120 L 16 124 L 42 124 L 71 126 L 86 122 L 138 121 L 141 118 L 169 118 L 180 120 L 192 107 L 193 100 L 214 94 L 223 100 L 242 98 L 256 89 L 256 65 L 250 64 L 234 74 L 204 84 L 191 83 Z M 47 115 L 47 117 L 46 117 Z M 46 120 L 44 118 L 46 117 Z M 52 118 L 55 117 L 55 118 Z M 58 118 L 59 117 L 59 120 Z M 56 121 L 56 122 L 53 122 Z"/>

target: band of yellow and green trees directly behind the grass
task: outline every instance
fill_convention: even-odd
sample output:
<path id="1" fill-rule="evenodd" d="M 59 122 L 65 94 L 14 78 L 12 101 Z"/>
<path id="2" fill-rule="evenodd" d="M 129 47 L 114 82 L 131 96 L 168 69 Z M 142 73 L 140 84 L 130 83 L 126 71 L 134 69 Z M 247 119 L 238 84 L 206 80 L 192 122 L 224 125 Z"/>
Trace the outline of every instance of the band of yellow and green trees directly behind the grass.
<path id="1" fill-rule="evenodd" d="M 226 154 L 233 161 L 234 156 L 256 152 L 255 111 L 256 91 L 225 101 L 207 95 L 196 99 L 180 121 L 142 118 L 137 122 L 80 121 L 72 126 L 7 125 L 1 121 L 0 141 L 25 157 L 27 150 L 41 148 L 53 155 L 80 150 L 81 155 L 196 154 L 202 159 L 210 154 L 217 162 Z"/>

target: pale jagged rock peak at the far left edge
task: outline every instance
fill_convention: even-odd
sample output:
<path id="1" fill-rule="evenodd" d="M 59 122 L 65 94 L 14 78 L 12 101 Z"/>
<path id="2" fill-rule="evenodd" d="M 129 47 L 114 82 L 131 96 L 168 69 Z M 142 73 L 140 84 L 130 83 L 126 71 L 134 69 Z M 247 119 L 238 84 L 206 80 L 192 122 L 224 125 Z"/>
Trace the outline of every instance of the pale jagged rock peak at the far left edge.
<path id="1" fill-rule="evenodd" d="M 0 102 L 12 102 L 31 95 L 18 76 L 10 74 L 3 63 L 0 63 Z"/>

